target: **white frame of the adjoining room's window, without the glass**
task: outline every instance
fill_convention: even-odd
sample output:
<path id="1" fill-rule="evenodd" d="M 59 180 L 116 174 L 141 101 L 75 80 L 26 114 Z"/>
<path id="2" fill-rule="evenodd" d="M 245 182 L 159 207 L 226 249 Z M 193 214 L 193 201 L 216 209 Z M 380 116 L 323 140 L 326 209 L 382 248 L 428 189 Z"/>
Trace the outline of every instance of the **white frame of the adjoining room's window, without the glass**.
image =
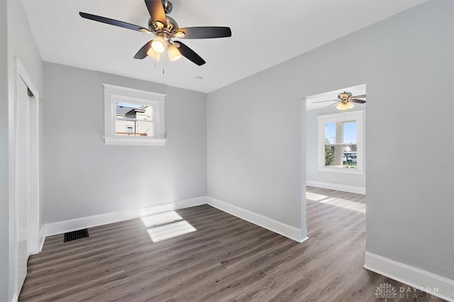
<path id="1" fill-rule="evenodd" d="M 364 144 L 364 110 L 335 113 L 332 115 L 319 115 L 319 165 L 318 170 L 324 172 L 347 173 L 347 174 L 364 174 L 365 173 L 365 144 Z M 356 169 L 328 167 L 325 165 L 325 124 L 328 122 L 356 122 Z"/>

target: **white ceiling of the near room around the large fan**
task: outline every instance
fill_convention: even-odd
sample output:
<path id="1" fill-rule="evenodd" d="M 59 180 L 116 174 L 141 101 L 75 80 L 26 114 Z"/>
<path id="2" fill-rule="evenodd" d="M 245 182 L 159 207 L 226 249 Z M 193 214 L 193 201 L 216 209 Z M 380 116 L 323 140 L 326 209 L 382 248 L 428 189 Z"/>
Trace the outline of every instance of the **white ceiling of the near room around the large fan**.
<path id="1" fill-rule="evenodd" d="M 179 27 L 229 26 L 232 37 L 184 40 L 205 59 L 155 62 L 134 54 L 154 35 L 90 21 L 79 11 L 147 27 L 141 0 L 22 1 L 44 61 L 210 92 L 284 62 L 423 0 L 174 0 Z M 165 74 L 162 74 L 164 69 Z M 203 77 L 196 81 L 195 77 Z"/>

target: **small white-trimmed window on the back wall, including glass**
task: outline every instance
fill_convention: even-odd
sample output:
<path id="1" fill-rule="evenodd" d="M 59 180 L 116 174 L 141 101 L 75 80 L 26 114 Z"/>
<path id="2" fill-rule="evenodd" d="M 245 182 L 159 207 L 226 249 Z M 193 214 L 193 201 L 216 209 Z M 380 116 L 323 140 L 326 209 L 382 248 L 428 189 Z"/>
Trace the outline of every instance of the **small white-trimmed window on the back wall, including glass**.
<path id="1" fill-rule="evenodd" d="M 164 146 L 165 95 L 103 85 L 105 144 Z"/>

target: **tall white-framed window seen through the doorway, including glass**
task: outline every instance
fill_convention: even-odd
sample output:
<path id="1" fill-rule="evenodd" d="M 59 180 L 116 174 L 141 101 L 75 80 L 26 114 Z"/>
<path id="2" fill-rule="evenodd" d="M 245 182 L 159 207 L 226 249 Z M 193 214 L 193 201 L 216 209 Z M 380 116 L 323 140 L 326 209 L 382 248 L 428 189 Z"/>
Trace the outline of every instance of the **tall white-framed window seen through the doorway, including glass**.
<path id="1" fill-rule="evenodd" d="M 363 111 L 319 116 L 319 170 L 364 173 Z"/>

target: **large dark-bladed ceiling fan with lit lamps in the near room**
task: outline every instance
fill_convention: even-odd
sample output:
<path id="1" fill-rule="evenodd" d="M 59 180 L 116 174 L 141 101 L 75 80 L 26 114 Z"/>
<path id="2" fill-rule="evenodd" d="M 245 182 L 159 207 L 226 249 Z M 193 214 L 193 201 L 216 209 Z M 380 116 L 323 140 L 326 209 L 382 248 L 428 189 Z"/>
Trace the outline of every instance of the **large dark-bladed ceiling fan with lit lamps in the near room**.
<path id="1" fill-rule="evenodd" d="M 82 13 L 79 15 L 101 23 L 115 25 L 121 28 L 137 30 L 142 33 L 153 33 L 155 38 L 135 54 L 135 59 L 144 59 L 147 56 L 153 57 L 156 60 L 160 59 L 162 53 L 167 50 L 170 61 L 175 61 L 180 57 L 186 57 L 195 64 L 201 66 L 205 64 L 199 54 L 190 49 L 183 42 L 173 41 L 172 38 L 182 39 L 210 39 L 215 37 L 231 37 L 231 29 L 221 26 L 202 26 L 192 28 L 178 28 L 177 22 L 167 16 L 172 11 L 172 4 L 167 0 L 145 0 L 145 5 L 150 13 L 148 28 L 143 26 L 126 23 L 123 21 L 114 20 L 111 18 L 92 15 L 91 13 Z"/>

